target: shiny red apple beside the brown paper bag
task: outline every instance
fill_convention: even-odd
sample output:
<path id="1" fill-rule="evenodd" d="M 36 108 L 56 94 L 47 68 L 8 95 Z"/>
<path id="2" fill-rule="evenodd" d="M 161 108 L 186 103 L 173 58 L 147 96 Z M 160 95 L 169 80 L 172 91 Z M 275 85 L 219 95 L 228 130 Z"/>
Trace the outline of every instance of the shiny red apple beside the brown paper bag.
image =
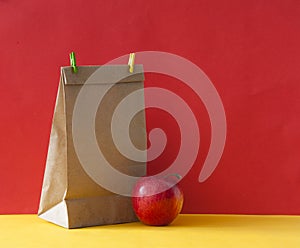
<path id="1" fill-rule="evenodd" d="M 141 222 L 151 226 L 165 226 L 180 213 L 183 192 L 170 178 L 142 177 L 133 188 L 132 203 Z"/>

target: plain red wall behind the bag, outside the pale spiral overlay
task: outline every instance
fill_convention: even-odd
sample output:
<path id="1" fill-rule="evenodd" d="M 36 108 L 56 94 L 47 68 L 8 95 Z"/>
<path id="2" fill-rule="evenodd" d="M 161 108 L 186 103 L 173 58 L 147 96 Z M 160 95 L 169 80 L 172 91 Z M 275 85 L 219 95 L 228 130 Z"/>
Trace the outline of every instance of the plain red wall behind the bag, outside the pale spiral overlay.
<path id="1" fill-rule="evenodd" d="M 207 113 L 180 82 L 146 75 L 146 86 L 172 88 L 199 120 L 199 156 L 181 182 L 184 212 L 300 214 L 299 27 L 297 0 L 0 1 L 0 213 L 37 211 L 59 67 L 69 52 L 87 65 L 159 50 L 205 71 L 228 122 L 220 164 L 200 184 Z M 147 111 L 147 125 L 169 137 L 149 164 L 155 173 L 174 158 L 179 133 L 159 110 Z"/>

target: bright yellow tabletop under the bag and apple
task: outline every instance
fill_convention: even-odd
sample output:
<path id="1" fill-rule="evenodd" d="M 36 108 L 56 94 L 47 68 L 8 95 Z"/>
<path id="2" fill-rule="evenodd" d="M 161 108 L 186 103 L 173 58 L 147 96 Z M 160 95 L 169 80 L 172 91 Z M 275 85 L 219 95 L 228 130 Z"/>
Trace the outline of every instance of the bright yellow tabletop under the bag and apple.
<path id="1" fill-rule="evenodd" d="M 0 247 L 300 247 L 300 216 L 180 215 L 165 227 L 139 222 L 64 229 L 36 215 L 0 215 Z"/>

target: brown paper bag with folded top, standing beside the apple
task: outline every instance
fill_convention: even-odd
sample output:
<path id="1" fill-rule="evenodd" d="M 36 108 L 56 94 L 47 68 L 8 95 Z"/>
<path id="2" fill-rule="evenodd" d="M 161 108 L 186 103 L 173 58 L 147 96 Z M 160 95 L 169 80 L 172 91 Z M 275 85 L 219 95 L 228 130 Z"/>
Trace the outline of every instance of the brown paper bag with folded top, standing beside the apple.
<path id="1" fill-rule="evenodd" d="M 72 117 L 76 98 L 86 80 L 99 68 L 80 66 L 77 73 L 71 67 L 61 69 L 38 216 L 66 228 L 137 220 L 130 197 L 110 192 L 96 183 L 83 169 L 74 148 Z M 110 129 L 112 114 L 118 103 L 131 92 L 143 89 L 143 68 L 136 65 L 133 74 L 129 73 L 127 65 L 105 65 L 101 68 L 103 75 L 100 74 L 91 84 L 85 84 L 85 90 L 91 95 L 107 84 L 114 84 L 99 104 L 95 117 L 99 149 L 120 172 L 143 176 L 146 173 L 145 162 L 124 157 L 114 145 Z M 122 80 L 115 83 L 116 78 Z M 143 97 L 136 97 L 135 101 L 144 104 Z M 139 149 L 145 149 L 144 110 L 132 119 L 129 131 L 132 143 Z"/>

